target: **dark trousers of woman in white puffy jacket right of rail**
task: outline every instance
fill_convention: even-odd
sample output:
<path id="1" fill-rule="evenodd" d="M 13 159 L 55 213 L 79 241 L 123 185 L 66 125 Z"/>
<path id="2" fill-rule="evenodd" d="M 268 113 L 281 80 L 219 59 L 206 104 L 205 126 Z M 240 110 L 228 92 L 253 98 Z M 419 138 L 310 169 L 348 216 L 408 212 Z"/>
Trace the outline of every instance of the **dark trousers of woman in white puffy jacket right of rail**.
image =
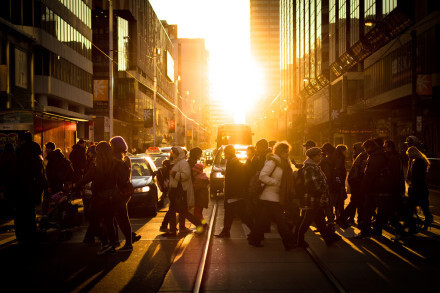
<path id="1" fill-rule="evenodd" d="M 251 234 L 249 241 L 259 243 L 264 238 L 264 225 L 267 219 L 272 219 L 277 224 L 278 233 L 281 236 L 285 248 L 291 248 L 293 245 L 293 234 L 287 224 L 285 213 L 279 202 L 262 200 L 259 204 L 259 214 L 257 222 Z"/>

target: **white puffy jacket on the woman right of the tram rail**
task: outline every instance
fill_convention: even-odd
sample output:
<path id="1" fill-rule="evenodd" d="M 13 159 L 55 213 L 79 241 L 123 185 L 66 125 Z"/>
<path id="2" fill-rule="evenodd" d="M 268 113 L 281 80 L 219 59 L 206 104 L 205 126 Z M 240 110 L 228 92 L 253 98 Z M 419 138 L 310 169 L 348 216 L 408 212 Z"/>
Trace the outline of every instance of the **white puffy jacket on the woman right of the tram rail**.
<path id="1" fill-rule="evenodd" d="M 260 181 L 265 184 L 260 195 L 261 200 L 280 202 L 282 176 L 281 158 L 278 155 L 268 154 L 266 163 L 260 173 Z"/>

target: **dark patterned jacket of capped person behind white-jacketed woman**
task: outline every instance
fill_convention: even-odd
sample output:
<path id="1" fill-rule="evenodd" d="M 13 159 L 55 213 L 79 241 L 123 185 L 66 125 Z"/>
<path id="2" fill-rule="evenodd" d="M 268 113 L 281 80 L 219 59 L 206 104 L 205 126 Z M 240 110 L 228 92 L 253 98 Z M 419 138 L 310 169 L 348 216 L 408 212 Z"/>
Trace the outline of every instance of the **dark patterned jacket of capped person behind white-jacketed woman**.
<path id="1" fill-rule="evenodd" d="M 306 188 L 305 207 L 313 208 L 328 205 L 328 184 L 324 172 L 310 158 L 304 161 L 303 168 L 304 186 Z"/>

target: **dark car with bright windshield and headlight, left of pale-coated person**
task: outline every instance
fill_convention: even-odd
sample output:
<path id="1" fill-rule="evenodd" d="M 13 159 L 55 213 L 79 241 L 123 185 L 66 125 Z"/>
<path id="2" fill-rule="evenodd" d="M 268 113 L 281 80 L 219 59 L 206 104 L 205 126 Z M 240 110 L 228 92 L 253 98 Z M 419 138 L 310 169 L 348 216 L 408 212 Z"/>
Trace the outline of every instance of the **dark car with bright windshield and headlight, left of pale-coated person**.
<path id="1" fill-rule="evenodd" d="M 163 205 L 162 192 L 156 185 L 156 165 L 145 155 L 132 156 L 130 160 L 134 194 L 128 202 L 128 212 L 156 216 L 159 206 Z"/>

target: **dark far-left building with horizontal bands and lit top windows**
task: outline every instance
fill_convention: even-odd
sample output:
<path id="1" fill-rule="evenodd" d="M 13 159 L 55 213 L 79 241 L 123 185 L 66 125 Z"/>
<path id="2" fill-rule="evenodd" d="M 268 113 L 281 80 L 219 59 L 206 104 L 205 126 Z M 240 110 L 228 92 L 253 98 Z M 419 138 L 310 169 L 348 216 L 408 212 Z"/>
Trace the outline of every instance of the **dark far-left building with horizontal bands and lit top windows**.
<path id="1" fill-rule="evenodd" d="M 91 2 L 1 2 L 2 137 L 31 131 L 66 154 L 77 138 L 89 139 Z"/>

